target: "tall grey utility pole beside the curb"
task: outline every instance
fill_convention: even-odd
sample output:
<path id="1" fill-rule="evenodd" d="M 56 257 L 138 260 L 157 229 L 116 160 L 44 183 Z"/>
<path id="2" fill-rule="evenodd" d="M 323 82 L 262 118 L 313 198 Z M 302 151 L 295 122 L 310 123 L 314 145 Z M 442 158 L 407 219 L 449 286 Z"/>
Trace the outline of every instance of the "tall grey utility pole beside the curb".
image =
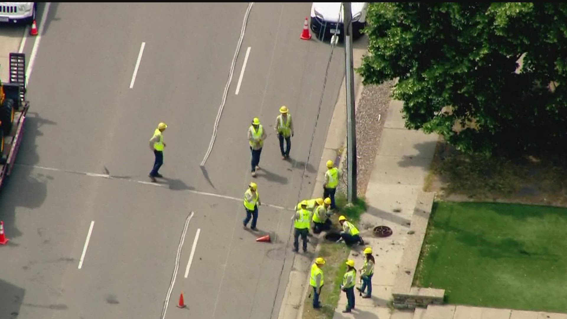
<path id="1" fill-rule="evenodd" d="M 348 159 L 348 178 L 346 185 L 347 200 L 353 203 L 356 191 L 356 115 L 354 113 L 354 68 L 352 40 L 352 12 L 350 2 L 343 2 L 343 24 L 345 32 L 345 68 L 346 68 L 346 156 Z"/>

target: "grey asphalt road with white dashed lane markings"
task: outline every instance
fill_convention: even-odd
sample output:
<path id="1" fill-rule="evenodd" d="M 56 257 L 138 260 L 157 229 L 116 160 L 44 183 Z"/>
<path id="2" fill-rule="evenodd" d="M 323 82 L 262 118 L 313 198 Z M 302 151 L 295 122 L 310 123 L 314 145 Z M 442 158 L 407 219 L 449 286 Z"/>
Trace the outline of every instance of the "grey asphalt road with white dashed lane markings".
<path id="1" fill-rule="evenodd" d="M 0 192 L 11 240 L 0 247 L 1 318 L 161 318 L 183 234 L 166 318 L 277 315 L 293 257 L 286 246 L 292 212 L 264 205 L 260 231 L 242 229 L 240 198 L 252 181 L 246 131 L 257 116 L 269 135 L 255 179 L 262 202 L 293 207 L 300 188 L 299 197 L 310 196 L 344 49 L 333 54 L 317 118 L 331 47 L 299 39 L 310 3 L 255 3 L 201 169 L 246 9 L 52 3 L 39 22 L 23 144 Z M 291 161 L 281 160 L 272 127 L 284 104 L 295 124 Z M 160 121 L 168 124 L 165 178 L 151 184 L 147 144 Z M 255 241 L 268 232 L 271 244 Z M 175 307 L 180 291 L 186 309 Z"/>

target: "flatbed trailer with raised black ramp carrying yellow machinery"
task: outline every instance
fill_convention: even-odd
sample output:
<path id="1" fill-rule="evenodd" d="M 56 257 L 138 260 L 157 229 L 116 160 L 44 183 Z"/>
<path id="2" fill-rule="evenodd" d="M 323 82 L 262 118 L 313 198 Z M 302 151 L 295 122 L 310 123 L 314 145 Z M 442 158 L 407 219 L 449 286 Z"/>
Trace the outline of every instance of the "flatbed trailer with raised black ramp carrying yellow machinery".
<path id="1" fill-rule="evenodd" d="M 26 54 L 10 53 L 9 68 L 9 82 L 0 82 L 0 187 L 14 167 L 29 108 Z"/>

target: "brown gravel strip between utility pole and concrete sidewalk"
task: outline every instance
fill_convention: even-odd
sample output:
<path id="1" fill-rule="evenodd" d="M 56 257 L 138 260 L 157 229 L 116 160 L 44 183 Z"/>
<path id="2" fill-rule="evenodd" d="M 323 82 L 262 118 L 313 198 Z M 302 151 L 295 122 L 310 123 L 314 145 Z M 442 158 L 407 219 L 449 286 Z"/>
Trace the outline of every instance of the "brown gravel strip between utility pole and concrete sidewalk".
<path id="1" fill-rule="evenodd" d="M 378 145 L 382 136 L 384 120 L 390 105 L 394 81 L 381 85 L 367 85 L 362 89 L 362 95 L 356 105 L 356 139 L 357 139 L 357 193 L 366 194 L 370 175 L 374 169 L 374 158 L 378 153 Z M 346 145 L 345 145 L 346 148 Z M 343 158 L 343 182 L 338 190 L 346 192 L 348 165 L 346 150 Z"/>

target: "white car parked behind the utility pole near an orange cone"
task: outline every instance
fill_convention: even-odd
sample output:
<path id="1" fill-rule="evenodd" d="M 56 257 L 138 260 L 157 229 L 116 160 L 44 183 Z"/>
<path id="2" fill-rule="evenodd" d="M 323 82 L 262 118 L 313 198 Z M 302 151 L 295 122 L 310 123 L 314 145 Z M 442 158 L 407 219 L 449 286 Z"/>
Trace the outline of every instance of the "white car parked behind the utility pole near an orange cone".
<path id="1" fill-rule="evenodd" d="M 366 26 L 366 9 L 368 2 L 351 2 L 353 37 L 362 35 Z M 311 31 L 318 39 L 325 39 L 331 35 L 344 36 L 343 12 L 341 2 L 313 2 L 311 5 Z"/>

